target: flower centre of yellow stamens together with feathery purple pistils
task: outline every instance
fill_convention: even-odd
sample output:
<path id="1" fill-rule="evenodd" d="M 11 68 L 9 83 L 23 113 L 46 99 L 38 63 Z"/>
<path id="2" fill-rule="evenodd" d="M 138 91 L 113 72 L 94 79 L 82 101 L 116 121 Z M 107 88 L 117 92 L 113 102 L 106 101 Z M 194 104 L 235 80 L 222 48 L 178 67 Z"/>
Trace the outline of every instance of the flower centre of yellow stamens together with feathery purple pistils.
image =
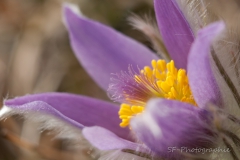
<path id="1" fill-rule="evenodd" d="M 178 70 L 174 61 L 152 60 L 152 68 L 146 66 L 136 73 L 130 67 L 129 73 L 116 76 L 109 86 L 109 93 L 113 100 L 123 103 L 119 111 L 121 127 L 128 126 L 133 116 L 142 113 L 151 98 L 178 100 L 196 106 L 186 71 Z"/>

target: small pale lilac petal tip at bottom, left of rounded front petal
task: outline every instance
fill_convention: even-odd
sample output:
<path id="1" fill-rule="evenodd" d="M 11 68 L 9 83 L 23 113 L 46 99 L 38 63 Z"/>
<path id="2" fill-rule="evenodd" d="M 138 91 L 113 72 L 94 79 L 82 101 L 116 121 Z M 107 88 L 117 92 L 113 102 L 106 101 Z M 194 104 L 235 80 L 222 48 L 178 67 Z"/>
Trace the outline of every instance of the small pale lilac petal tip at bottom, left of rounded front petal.
<path id="1" fill-rule="evenodd" d="M 97 147 L 100 150 L 144 150 L 140 144 L 119 138 L 114 133 L 102 127 L 86 127 L 83 129 L 83 135 L 93 146 Z"/>

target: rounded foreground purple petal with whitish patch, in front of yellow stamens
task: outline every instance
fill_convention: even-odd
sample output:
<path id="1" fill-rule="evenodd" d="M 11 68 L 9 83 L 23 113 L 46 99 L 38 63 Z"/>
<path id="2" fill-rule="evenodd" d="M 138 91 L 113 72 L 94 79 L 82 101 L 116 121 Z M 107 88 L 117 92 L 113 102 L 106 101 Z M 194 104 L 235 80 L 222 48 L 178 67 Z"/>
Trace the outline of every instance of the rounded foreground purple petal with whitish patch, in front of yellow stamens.
<path id="1" fill-rule="evenodd" d="M 181 147 L 209 148 L 213 146 L 214 134 L 204 121 L 207 114 L 203 110 L 179 101 L 166 99 L 151 100 L 142 115 L 131 122 L 133 132 L 158 155 L 179 157 Z"/>

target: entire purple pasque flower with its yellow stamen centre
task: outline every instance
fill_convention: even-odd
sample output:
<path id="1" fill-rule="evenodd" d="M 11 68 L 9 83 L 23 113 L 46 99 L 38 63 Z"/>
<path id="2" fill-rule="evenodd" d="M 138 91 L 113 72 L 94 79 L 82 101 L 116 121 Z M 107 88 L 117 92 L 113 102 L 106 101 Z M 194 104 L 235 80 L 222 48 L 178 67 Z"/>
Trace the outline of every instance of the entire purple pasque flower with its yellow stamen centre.
<path id="1" fill-rule="evenodd" d="M 57 117 L 83 129 L 95 147 L 120 149 L 139 158 L 150 158 L 150 149 L 166 159 L 220 159 L 222 155 L 212 152 L 179 150 L 220 146 L 230 148 L 226 157 L 236 159 L 234 146 L 240 144 L 239 138 L 223 121 L 235 125 L 239 120 L 224 112 L 210 59 L 211 43 L 224 30 L 224 23 L 213 23 L 194 36 L 174 0 L 154 2 L 172 59 L 169 63 L 138 42 L 83 17 L 76 8 L 65 5 L 63 9 L 78 60 L 114 101 L 123 103 L 121 109 L 85 96 L 43 93 L 6 100 L 2 112 Z M 172 147 L 178 150 L 169 152 Z"/>

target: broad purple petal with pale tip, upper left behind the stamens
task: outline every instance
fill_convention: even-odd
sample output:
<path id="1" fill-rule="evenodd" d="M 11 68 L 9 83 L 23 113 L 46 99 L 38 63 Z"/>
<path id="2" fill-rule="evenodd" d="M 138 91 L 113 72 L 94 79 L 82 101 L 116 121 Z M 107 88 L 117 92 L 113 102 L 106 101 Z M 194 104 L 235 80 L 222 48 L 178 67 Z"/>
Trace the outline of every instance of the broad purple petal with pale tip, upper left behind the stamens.
<path id="1" fill-rule="evenodd" d="M 158 59 L 148 48 L 123 34 L 64 7 L 71 46 L 83 67 L 105 90 L 111 73 L 127 70 L 129 65 L 143 68 Z"/>

